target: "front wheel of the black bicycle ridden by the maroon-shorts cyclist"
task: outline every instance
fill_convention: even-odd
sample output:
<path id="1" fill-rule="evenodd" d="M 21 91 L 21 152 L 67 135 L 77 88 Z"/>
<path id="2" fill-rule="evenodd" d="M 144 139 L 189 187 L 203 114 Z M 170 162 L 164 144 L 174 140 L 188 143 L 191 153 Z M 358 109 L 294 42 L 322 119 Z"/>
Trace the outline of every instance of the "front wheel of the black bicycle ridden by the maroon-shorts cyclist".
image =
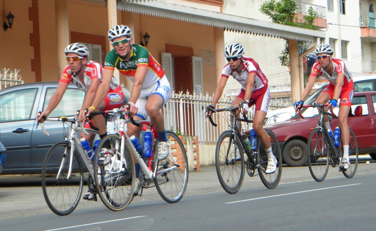
<path id="1" fill-rule="evenodd" d="M 238 158 L 240 159 L 237 160 Z M 240 137 L 237 137 L 235 143 L 231 131 L 222 132 L 218 138 L 215 147 L 215 169 L 219 182 L 227 193 L 234 194 L 240 190 L 244 179 L 244 152 Z"/>

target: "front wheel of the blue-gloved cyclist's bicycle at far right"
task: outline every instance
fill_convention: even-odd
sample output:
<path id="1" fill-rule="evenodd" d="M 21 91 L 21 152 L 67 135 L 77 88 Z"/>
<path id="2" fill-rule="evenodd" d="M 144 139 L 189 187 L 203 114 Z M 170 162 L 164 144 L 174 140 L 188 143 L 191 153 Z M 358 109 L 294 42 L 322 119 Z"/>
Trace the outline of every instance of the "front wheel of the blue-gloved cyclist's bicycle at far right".
<path id="1" fill-rule="evenodd" d="M 329 146 L 322 128 L 315 128 L 308 138 L 308 167 L 313 179 L 321 182 L 329 169 Z"/>

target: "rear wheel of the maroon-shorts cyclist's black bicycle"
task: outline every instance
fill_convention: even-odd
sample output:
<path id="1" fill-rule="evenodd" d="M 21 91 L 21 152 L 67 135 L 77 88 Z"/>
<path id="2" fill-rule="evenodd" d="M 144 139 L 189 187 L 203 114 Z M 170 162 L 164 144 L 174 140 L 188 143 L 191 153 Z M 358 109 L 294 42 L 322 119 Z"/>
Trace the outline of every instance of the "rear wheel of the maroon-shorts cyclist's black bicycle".
<path id="1" fill-rule="evenodd" d="M 271 149 L 273 150 L 274 156 L 277 159 L 277 169 L 274 173 L 266 174 L 265 170 L 268 166 L 268 155 L 265 151 L 264 146 L 262 146 L 261 141 L 258 141 L 258 158 L 256 159 L 257 168 L 261 181 L 265 187 L 272 189 L 277 187 L 279 180 L 282 175 L 282 153 L 280 150 L 279 142 L 276 135 L 270 129 L 265 129 L 265 132 L 269 135 L 269 140 L 271 143 Z"/>

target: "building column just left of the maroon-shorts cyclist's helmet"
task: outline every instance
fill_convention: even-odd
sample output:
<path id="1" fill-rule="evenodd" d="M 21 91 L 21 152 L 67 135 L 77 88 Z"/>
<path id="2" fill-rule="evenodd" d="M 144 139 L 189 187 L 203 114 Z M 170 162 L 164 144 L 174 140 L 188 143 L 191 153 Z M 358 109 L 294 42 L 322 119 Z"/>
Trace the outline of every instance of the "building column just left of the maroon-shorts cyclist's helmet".
<path id="1" fill-rule="evenodd" d="M 216 85 L 218 85 L 221 78 L 222 69 L 224 66 L 224 33 L 223 28 L 214 27 L 214 53 L 215 53 L 215 79 Z"/>

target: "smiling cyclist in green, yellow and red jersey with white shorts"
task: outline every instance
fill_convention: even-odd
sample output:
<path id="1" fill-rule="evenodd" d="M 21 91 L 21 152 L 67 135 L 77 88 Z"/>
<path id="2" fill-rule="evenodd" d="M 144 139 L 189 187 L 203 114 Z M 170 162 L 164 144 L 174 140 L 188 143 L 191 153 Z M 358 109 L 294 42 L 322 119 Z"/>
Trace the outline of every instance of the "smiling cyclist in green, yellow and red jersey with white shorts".
<path id="1" fill-rule="evenodd" d="M 164 160 L 168 156 L 170 144 L 167 141 L 161 108 L 170 99 L 171 87 L 161 65 L 145 47 L 133 44 L 131 35 L 131 30 L 125 25 L 116 25 L 108 31 L 108 40 L 112 42 L 114 49 L 106 55 L 103 82 L 98 88 L 92 107 L 96 108 L 105 97 L 116 67 L 133 82 L 128 102 L 129 115 L 138 120 L 146 120 L 150 116 L 150 121 L 158 132 L 157 158 Z M 91 109 L 88 113 L 90 112 Z M 128 135 L 139 138 L 140 133 L 141 127 L 127 124 Z M 138 176 L 139 164 L 135 164 L 135 169 Z M 136 194 L 140 187 L 137 178 L 133 193 Z"/>

